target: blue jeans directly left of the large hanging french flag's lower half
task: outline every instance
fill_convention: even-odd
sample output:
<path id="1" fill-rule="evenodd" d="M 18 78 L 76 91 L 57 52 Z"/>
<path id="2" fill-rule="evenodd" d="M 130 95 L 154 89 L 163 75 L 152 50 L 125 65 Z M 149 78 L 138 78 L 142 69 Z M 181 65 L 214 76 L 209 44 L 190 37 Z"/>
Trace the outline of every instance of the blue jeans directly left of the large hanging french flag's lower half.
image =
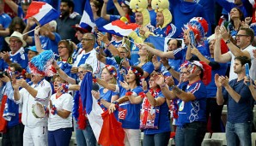
<path id="1" fill-rule="evenodd" d="M 78 129 L 78 125 L 75 122 L 76 127 L 76 143 L 78 146 L 95 146 L 97 144 L 94 136 L 94 131 L 90 126 L 88 120 L 86 120 L 86 128 L 84 130 Z"/>

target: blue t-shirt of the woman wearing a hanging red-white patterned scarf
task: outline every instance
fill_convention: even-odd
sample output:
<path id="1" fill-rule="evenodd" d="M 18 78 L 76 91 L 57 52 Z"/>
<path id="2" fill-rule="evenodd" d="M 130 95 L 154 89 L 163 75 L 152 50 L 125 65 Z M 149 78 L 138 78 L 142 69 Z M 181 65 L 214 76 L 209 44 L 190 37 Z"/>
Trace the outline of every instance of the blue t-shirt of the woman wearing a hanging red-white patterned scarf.
<path id="1" fill-rule="evenodd" d="M 155 94 L 155 98 L 157 97 L 162 97 L 163 96 L 162 91 L 158 92 Z M 144 134 L 149 135 L 149 134 L 157 134 L 157 133 L 162 133 L 165 131 L 171 131 L 171 126 L 170 126 L 170 119 L 168 117 L 168 103 L 165 101 L 159 109 L 159 123 L 158 123 L 158 129 L 145 129 Z"/>

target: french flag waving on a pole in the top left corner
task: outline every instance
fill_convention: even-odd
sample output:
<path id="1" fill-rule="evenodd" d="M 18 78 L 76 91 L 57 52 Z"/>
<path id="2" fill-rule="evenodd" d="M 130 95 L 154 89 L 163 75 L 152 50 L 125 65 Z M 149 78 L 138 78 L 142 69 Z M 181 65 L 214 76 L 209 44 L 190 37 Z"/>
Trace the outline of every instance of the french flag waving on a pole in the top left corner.
<path id="1" fill-rule="evenodd" d="M 33 1 L 27 9 L 25 19 L 29 17 L 34 17 L 39 21 L 40 25 L 43 26 L 52 20 L 58 19 L 59 13 L 48 3 Z"/>

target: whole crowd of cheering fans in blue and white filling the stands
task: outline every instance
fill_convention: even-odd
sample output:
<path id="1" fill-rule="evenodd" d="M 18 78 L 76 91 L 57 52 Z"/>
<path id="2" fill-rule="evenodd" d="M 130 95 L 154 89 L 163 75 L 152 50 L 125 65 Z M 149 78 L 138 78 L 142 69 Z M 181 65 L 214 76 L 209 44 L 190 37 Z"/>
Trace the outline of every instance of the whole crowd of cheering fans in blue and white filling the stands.
<path id="1" fill-rule="evenodd" d="M 81 100 L 90 75 L 89 93 L 121 122 L 125 146 L 141 145 L 141 132 L 145 146 L 167 146 L 171 132 L 175 145 L 198 146 L 207 131 L 252 145 L 254 1 L 90 0 L 94 27 L 79 25 L 85 0 L 61 0 L 59 18 L 44 26 L 24 19 L 30 3 L 0 0 L 3 146 L 69 145 L 72 131 L 77 145 L 98 145 Z M 114 20 L 139 26 L 123 37 L 99 31 Z M 166 38 L 167 50 L 152 36 Z M 46 50 L 52 77 L 29 65 Z"/>

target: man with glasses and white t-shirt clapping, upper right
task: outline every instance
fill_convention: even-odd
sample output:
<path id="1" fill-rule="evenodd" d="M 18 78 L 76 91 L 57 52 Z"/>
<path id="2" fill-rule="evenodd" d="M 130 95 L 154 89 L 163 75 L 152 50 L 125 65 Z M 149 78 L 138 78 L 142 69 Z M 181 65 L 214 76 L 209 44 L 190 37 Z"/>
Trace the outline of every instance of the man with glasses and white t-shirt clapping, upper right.
<path id="1" fill-rule="evenodd" d="M 217 62 L 225 63 L 231 61 L 231 67 L 229 72 L 229 80 L 236 79 L 237 74 L 234 72 L 234 64 L 236 56 L 247 56 L 252 62 L 252 67 L 250 68 L 250 77 L 256 79 L 256 60 L 253 57 L 253 38 L 254 32 L 253 29 L 247 27 L 241 27 L 239 32 L 237 32 L 235 40 L 236 44 L 230 41 L 229 32 L 227 32 L 224 26 L 216 26 L 215 30 L 215 50 L 214 50 L 214 59 Z M 229 47 L 229 52 L 221 54 L 221 39 L 226 42 Z"/>

